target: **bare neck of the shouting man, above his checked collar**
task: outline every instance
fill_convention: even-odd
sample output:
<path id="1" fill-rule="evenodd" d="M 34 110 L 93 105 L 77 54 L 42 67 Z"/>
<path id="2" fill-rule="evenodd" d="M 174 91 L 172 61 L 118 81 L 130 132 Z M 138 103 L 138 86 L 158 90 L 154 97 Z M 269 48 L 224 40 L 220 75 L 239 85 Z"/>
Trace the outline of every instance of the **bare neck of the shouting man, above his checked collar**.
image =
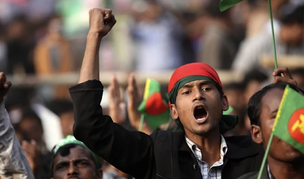
<path id="1" fill-rule="evenodd" d="M 187 138 L 201 150 L 202 160 L 208 163 L 210 167 L 220 159 L 221 137 L 219 129 L 204 136 L 196 135 L 186 130 L 185 133 Z"/>

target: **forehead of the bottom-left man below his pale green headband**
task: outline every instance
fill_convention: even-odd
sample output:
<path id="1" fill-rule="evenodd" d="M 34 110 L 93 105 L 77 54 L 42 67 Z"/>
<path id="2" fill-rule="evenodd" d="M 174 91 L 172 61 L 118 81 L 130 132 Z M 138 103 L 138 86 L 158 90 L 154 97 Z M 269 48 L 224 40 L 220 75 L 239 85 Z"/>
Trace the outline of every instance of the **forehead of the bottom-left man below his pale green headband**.
<path id="1" fill-rule="evenodd" d="M 54 166 L 57 163 L 60 163 L 60 162 L 72 161 L 72 160 L 77 160 L 77 159 L 92 160 L 90 151 L 85 149 L 82 146 L 77 146 L 77 147 L 74 147 L 74 148 L 70 148 L 69 151 L 70 151 L 69 155 L 64 156 L 64 157 L 61 156 L 60 154 L 58 154 L 54 158 Z"/>

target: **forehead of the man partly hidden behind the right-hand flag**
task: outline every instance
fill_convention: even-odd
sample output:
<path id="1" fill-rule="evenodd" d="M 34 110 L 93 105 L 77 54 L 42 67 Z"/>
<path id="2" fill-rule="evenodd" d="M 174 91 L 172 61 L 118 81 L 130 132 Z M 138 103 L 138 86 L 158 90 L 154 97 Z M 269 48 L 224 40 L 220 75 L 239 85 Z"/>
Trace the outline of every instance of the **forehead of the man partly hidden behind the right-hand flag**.
<path id="1" fill-rule="evenodd" d="M 270 89 L 261 100 L 261 113 L 272 113 L 279 109 L 284 89 Z"/>

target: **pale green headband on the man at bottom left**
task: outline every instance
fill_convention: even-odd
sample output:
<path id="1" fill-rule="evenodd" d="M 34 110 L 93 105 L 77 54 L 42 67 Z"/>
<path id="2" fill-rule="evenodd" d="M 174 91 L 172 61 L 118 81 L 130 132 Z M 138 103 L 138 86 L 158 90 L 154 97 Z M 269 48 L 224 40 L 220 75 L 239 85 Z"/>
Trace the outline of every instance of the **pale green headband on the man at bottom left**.
<path id="1" fill-rule="evenodd" d="M 66 146 L 68 144 L 77 144 L 77 145 L 83 146 L 83 147 L 87 148 L 88 150 L 90 150 L 83 142 L 78 141 L 77 139 L 75 139 L 74 136 L 68 135 L 66 138 L 61 139 L 58 142 L 58 144 L 53 149 L 53 153 L 56 154 L 61 147 Z M 101 163 L 100 163 L 99 157 L 95 153 L 93 153 L 91 150 L 90 150 L 90 152 L 94 158 L 94 163 L 96 164 L 96 167 L 100 168 Z"/>

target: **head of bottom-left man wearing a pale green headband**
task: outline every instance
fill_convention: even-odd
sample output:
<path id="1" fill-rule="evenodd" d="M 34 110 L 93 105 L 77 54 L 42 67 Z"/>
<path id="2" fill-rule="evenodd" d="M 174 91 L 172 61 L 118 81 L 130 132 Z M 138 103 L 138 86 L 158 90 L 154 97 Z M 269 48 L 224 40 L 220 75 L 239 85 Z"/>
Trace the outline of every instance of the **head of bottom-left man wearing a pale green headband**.
<path id="1" fill-rule="evenodd" d="M 60 140 L 52 152 L 51 178 L 102 178 L 99 157 L 73 136 Z"/>

